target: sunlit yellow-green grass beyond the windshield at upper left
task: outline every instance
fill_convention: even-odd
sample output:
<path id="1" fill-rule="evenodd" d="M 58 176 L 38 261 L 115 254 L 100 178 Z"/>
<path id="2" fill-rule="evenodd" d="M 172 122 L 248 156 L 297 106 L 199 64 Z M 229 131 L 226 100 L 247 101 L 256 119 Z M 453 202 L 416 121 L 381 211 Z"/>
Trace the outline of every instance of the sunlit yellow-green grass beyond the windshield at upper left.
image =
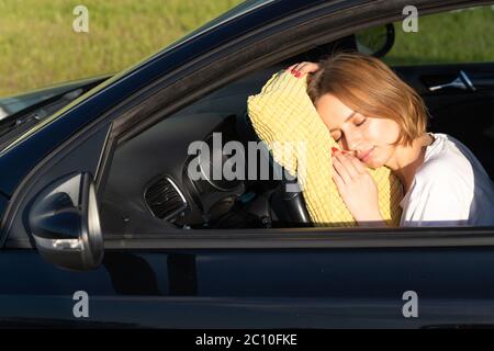
<path id="1" fill-rule="evenodd" d="M 120 71 L 242 0 L 0 0 L 0 95 Z M 72 10 L 89 10 L 76 33 Z"/>

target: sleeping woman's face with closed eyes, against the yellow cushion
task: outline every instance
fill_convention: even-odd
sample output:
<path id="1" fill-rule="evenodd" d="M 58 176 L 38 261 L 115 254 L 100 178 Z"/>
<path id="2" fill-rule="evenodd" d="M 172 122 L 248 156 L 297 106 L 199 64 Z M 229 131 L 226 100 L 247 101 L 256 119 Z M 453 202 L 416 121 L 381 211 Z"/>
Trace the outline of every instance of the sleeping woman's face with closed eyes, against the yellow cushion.
<path id="1" fill-rule="evenodd" d="M 370 168 L 388 166 L 396 149 L 400 125 L 391 118 L 369 117 L 353 112 L 333 94 L 321 97 L 316 110 L 332 137 Z"/>

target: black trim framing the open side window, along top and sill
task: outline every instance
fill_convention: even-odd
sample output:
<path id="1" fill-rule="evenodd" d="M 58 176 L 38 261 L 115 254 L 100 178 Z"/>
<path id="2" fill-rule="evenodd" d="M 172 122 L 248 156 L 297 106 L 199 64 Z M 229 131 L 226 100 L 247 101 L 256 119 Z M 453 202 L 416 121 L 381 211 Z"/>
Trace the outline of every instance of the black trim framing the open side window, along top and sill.
<path id="1" fill-rule="evenodd" d="M 375 2 L 379 3 L 377 4 Z M 341 7 L 341 2 L 323 3 L 274 21 L 265 27 L 256 29 L 231 43 L 211 50 L 205 56 L 184 63 L 183 67 L 177 71 L 159 78 L 156 83 L 145 87 L 141 93 L 127 98 L 117 109 L 112 109 L 109 113 L 100 116 L 91 124 L 91 127 L 109 122 L 112 123 L 112 127 L 96 173 L 99 197 L 104 191 L 103 183 L 111 167 L 111 155 L 113 155 L 114 149 L 121 143 L 207 93 L 249 72 L 254 72 L 256 69 L 273 65 L 287 57 L 303 53 L 312 46 L 332 42 L 356 31 L 402 19 L 403 14 L 400 10 L 407 1 L 401 0 L 392 4 L 382 0 L 375 2 L 366 2 L 350 8 Z M 445 0 L 434 2 L 423 0 L 417 1 L 416 5 L 420 11 L 419 13 L 428 14 L 472 7 L 473 4 L 492 3 L 494 1 L 457 1 L 456 3 L 450 3 Z M 372 19 L 369 19 L 370 15 L 372 15 Z M 330 33 L 326 31 L 324 35 L 321 35 L 322 31 L 327 30 L 327 23 L 330 21 L 334 21 L 330 23 L 333 26 L 339 25 L 339 27 L 337 30 L 333 29 Z M 293 27 L 296 29 L 294 30 Z M 276 32 L 274 34 L 273 31 Z M 287 32 L 289 35 L 287 35 Z M 310 35 L 303 35 L 308 32 L 311 32 Z M 293 41 L 296 34 L 301 35 L 299 37 L 305 38 L 304 43 Z M 213 69 L 211 69 L 212 67 Z M 220 75 L 218 70 L 221 71 Z M 194 78 L 198 76 L 202 77 L 202 79 L 195 79 L 194 81 Z M 183 94 L 183 91 L 189 91 L 189 93 Z M 128 133 L 131 129 L 133 132 Z M 64 143 L 54 150 L 35 170 L 40 170 L 41 167 L 49 167 L 49 160 L 59 154 L 60 149 L 70 143 L 76 143 L 78 138 L 85 135 L 86 131 L 87 128 L 82 128 L 67 141 L 68 144 Z M 36 171 L 33 170 L 24 179 L 19 186 L 21 190 L 18 188 L 15 191 L 10 206 L 19 201 L 16 196 L 18 191 L 22 192 L 22 189 L 29 189 L 29 183 L 36 178 L 35 174 Z M 11 211 L 7 211 L 7 214 L 9 213 Z M 166 229 L 162 235 L 150 236 L 141 234 L 138 238 L 112 234 L 103 234 L 103 236 L 104 246 L 109 249 L 283 249 L 494 245 L 494 227 Z"/>

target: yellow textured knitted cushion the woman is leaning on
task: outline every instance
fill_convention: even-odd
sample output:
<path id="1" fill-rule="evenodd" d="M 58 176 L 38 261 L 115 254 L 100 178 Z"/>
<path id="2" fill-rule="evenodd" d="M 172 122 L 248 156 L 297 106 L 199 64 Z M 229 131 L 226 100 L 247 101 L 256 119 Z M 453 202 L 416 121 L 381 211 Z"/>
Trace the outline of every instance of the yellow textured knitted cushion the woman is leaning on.
<path id="1" fill-rule="evenodd" d="M 306 89 L 306 78 L 295 78 L 285 71 L 276 73 L 259 94 L 249 97 L 249 117 L 273 159 L 297 177 L 314 225 L 356 226 L 332 179 L 330 148 L 338 145 Z M 287 152 L 283 145 L 291 145 L 292 152 Z M 397 227 L 403 197 L 400 180 L 386 167 L 368 170 L 379 190 L 381 215 L 388 225 Z"/>

